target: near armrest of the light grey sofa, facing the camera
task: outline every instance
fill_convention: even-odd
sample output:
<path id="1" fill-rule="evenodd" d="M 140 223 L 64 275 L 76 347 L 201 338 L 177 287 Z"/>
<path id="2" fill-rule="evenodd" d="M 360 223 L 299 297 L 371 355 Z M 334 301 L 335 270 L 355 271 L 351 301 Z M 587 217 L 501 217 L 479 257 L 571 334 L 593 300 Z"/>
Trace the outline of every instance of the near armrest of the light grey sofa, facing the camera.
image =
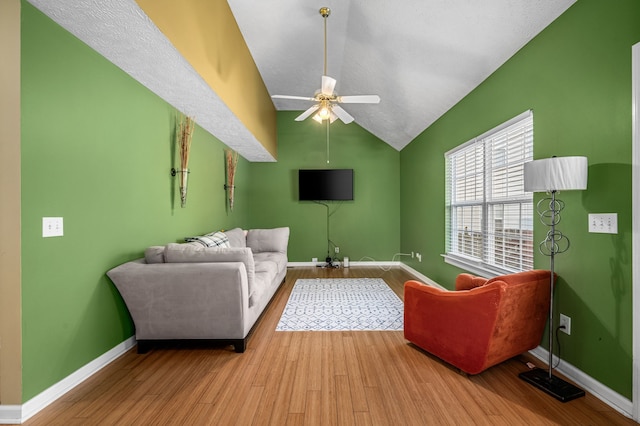
<path id="1" fill-rule="evenodd" d="M 107 275 L 131 313 L 138 339 L 242 339 L 249 332 L 249 292 L 242 262 L 139 260 Z"/>

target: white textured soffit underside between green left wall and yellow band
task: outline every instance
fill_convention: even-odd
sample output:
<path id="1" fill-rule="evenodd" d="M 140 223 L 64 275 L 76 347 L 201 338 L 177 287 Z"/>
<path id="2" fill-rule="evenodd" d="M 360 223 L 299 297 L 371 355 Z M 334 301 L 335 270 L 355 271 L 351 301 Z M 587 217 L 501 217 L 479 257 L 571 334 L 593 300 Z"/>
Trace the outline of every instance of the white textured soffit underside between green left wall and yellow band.
<path id="1" fill-rule="evenodd" d="M 274 161 L 134 0 L 28 0 L 249 161 Z"/>

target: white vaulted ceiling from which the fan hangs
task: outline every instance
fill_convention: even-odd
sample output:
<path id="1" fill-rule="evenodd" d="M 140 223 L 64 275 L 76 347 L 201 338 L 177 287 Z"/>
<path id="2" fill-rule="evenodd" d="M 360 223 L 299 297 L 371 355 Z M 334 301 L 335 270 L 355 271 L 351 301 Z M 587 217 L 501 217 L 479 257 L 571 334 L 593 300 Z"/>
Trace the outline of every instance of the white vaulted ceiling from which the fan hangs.
<path id="1" fill-rule="evenodd" d="M 271 95 L 313 96 L 323 72 L 356 123 L 400 150 L 454 106 L 574 0 L 229 0 Z M 304 101 L 276 100 L 279 110 Z"/>

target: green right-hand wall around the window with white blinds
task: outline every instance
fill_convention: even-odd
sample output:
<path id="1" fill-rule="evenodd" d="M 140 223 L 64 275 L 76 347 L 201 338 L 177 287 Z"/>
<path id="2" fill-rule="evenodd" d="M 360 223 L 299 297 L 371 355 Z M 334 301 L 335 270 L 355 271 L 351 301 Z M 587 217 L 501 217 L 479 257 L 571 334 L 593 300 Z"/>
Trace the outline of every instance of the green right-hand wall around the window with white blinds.
<path id="1" fill-rule="evenodd" d="M 615 4 L 614 4 L 615 3 Z M 401 152 L 402 250 L 411 266 L 452 287 L 444 263 L 444 153 L 527 110 L 534 157 L 589 158 L 588 189 L 565 192 L 559 229 L 571 240 L 556 258 L 556 314 L 572 318 L 561 356 L 631 398 L 631 46 L 640 2 L 580 0 Z M 542 197 L 535 195 L 534 202 Z M 618 234 L 587 232 L 588 213 L 618 213 Z M 536 219 L 535 239 L 545 227 Z M 549 268 L 537 254 L 535 266 Z M 556 319 L 557 321 L 557 319 Z M 557 322 L 556 322 L 557 324 Z M 544 342 L 547 338 L 543 339 Z M 556 348 L 557 349 L 557 348 Z"/>

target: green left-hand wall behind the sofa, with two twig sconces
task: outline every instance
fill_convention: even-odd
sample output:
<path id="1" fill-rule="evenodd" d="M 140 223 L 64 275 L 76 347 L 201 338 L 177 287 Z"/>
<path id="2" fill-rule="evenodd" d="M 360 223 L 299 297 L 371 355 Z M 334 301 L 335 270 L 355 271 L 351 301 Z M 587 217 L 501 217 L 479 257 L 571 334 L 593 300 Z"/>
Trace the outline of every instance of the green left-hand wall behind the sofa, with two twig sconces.
<path id="1" fill-rule="evenodd" d="M 176 110 L 22 2 L 23 400 L 133 334 L 105 272 L 153 244 L 246 222 L 225 146 L 197 128 L 187 207 L 169 170 Z M 240 160 L 237 184 L 246 186 Z M 64 236 L 42 237 L 62 216 Z"/>

